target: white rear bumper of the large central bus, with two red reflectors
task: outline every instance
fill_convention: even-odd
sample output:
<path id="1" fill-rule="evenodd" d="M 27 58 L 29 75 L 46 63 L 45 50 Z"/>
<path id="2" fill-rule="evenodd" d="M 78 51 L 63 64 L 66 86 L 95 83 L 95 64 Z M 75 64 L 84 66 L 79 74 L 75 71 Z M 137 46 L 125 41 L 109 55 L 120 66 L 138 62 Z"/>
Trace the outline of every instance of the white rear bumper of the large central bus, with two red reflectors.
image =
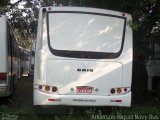
<path id="1" fill-rule="evenodd" d="M 131 106 L 131 92 L 115 96 L 54 95 L 34 89 L 34 105 Z"/>

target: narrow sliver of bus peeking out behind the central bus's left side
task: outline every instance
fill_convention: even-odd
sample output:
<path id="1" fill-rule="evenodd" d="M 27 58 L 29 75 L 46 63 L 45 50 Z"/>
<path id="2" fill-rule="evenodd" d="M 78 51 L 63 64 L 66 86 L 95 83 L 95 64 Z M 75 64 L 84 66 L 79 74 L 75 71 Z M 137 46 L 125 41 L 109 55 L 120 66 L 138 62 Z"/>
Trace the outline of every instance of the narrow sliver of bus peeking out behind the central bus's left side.
<path id="1" fill-rule="evenodd" d="M 33 41 L 32 48 L 31 48 L 31 51 L 30 51 L 29 76 L 34 75 L 34 56 L 35 56 L 35 41 Z"/>

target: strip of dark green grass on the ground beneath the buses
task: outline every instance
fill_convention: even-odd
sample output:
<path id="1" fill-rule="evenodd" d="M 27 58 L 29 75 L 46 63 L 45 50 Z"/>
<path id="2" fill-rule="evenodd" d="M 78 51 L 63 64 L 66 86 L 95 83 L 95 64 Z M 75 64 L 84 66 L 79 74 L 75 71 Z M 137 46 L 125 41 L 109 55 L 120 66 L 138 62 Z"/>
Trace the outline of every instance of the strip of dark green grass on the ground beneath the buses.
<path id="1" fill-rule="evenodd" d="M 37 112 L 33 107 L 0 107 L 0 118 L 17 117 L 17 120 L 115 120 L 115 119 L 160 119 L 160 106 L 137 105 L 131 108 L 70 108 L 66 113 L 46 114 Z M 15 119 L 13 119 L 15 120 Z"/>

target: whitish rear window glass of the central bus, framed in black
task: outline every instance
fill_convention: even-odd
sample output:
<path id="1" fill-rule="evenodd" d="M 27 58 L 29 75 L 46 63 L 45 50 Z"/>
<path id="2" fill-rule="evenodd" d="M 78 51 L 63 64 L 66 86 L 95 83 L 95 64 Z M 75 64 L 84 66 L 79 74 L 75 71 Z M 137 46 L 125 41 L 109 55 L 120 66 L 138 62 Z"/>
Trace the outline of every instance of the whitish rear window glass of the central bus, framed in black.
<path id="1" fill-rule="evenodd" d="M 125 18 L 94 13 L 48 13 L 49 44 L 54 50 L 118 53 Z"/>

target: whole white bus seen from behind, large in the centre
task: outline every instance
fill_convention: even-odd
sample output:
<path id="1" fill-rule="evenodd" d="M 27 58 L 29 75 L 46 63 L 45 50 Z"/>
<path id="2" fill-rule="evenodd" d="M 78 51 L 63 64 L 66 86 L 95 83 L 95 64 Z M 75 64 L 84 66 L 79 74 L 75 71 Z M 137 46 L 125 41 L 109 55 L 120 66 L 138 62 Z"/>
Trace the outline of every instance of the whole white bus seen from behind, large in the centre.
<path id="1" fill-rule="evenodd" d="M 34 105 L 130 106 L 131 19 L 96 8 L 41 8 Z"/>

